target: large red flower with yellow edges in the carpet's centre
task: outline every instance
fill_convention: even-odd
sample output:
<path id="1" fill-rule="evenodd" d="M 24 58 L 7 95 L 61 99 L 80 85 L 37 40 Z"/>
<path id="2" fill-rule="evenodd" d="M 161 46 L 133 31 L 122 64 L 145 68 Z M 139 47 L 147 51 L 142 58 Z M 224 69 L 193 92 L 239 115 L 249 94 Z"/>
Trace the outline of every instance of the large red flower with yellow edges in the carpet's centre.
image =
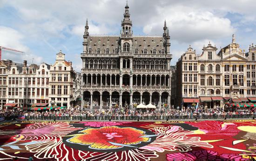
<path id="1" fill-rule="evenodd" d="M 130 127 L 88 128 L 81 133 L 83 134 L 68 139 L 68 142 L 90 145 L 89 148 L 111 149 L 123 147 L 119 144 L 130 145 L 149 141 L 148 137 L 141 137 L 144 136 L 144 131 Z"/>

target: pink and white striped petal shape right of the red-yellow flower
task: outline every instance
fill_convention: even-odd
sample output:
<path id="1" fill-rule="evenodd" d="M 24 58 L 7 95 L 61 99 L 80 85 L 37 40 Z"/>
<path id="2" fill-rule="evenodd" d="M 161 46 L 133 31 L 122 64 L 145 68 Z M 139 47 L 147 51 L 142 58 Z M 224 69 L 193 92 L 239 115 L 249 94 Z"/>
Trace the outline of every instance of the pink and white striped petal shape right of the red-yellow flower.
<path id="1" fill-rule="evenodd" d="M 158 152 L 164 152 L 164 150 L 187 152 L 192 150 L 191 147 L 213 148 L 208 142 L 201 142 L 200 137 L 187 136 L 193 132 L 184 130 L 180 126 L 156 127 L 151 131 L 159 136 L 154 142 L 141 148 Z"/>

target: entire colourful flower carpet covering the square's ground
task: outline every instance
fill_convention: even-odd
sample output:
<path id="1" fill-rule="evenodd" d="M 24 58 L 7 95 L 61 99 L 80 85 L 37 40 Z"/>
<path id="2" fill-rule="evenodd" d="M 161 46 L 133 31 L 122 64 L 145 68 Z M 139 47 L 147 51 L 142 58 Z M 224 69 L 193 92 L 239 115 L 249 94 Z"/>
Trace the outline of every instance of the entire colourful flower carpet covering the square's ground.
<path id="1" fill-rule="evenodd" d="M 8 122 L 0 160 L 249 161 L 256 121 Z"/>

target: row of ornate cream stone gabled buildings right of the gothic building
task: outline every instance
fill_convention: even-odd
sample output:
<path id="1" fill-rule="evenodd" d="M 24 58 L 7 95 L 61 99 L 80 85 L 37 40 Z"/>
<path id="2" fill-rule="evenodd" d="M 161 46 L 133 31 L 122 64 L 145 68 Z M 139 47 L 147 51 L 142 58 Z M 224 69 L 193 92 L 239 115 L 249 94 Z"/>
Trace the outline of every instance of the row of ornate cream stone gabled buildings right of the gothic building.
<path id="1" fill-rule="evenodd" d="M 225 102 L 256 99 L 256 46 L 249 52 L 239 48 L 233 35 L 232 43 L 216 53 L 210 43 L 196 55 L 189 47 L 177 62 L 177 105 L 191 103 L 205 107 L 223 106 Z"/>

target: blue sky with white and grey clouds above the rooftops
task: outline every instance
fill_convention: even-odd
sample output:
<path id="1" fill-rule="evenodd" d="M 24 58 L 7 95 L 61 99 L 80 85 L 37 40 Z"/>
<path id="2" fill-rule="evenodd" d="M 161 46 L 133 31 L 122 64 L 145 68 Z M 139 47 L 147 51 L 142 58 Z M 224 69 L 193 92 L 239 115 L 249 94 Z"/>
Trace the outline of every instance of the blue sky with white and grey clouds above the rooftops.
<path id="1" fill-rule="evenodd" d="M 16 62 L 54 63 L 62 50 L 81 70 L 82 35 L 86 19 L 90 34 L 119 35 L 126 0 L 0 0 L 0 46 Z M 164 19 L 171 36 L 175 64 L 188 46 L 200 54 L 202 46 L 226 46 L 232 34 L 245 51 L 256 37 L 254 0 L 128 0 L 135 35 L 162 35 Z"/>

